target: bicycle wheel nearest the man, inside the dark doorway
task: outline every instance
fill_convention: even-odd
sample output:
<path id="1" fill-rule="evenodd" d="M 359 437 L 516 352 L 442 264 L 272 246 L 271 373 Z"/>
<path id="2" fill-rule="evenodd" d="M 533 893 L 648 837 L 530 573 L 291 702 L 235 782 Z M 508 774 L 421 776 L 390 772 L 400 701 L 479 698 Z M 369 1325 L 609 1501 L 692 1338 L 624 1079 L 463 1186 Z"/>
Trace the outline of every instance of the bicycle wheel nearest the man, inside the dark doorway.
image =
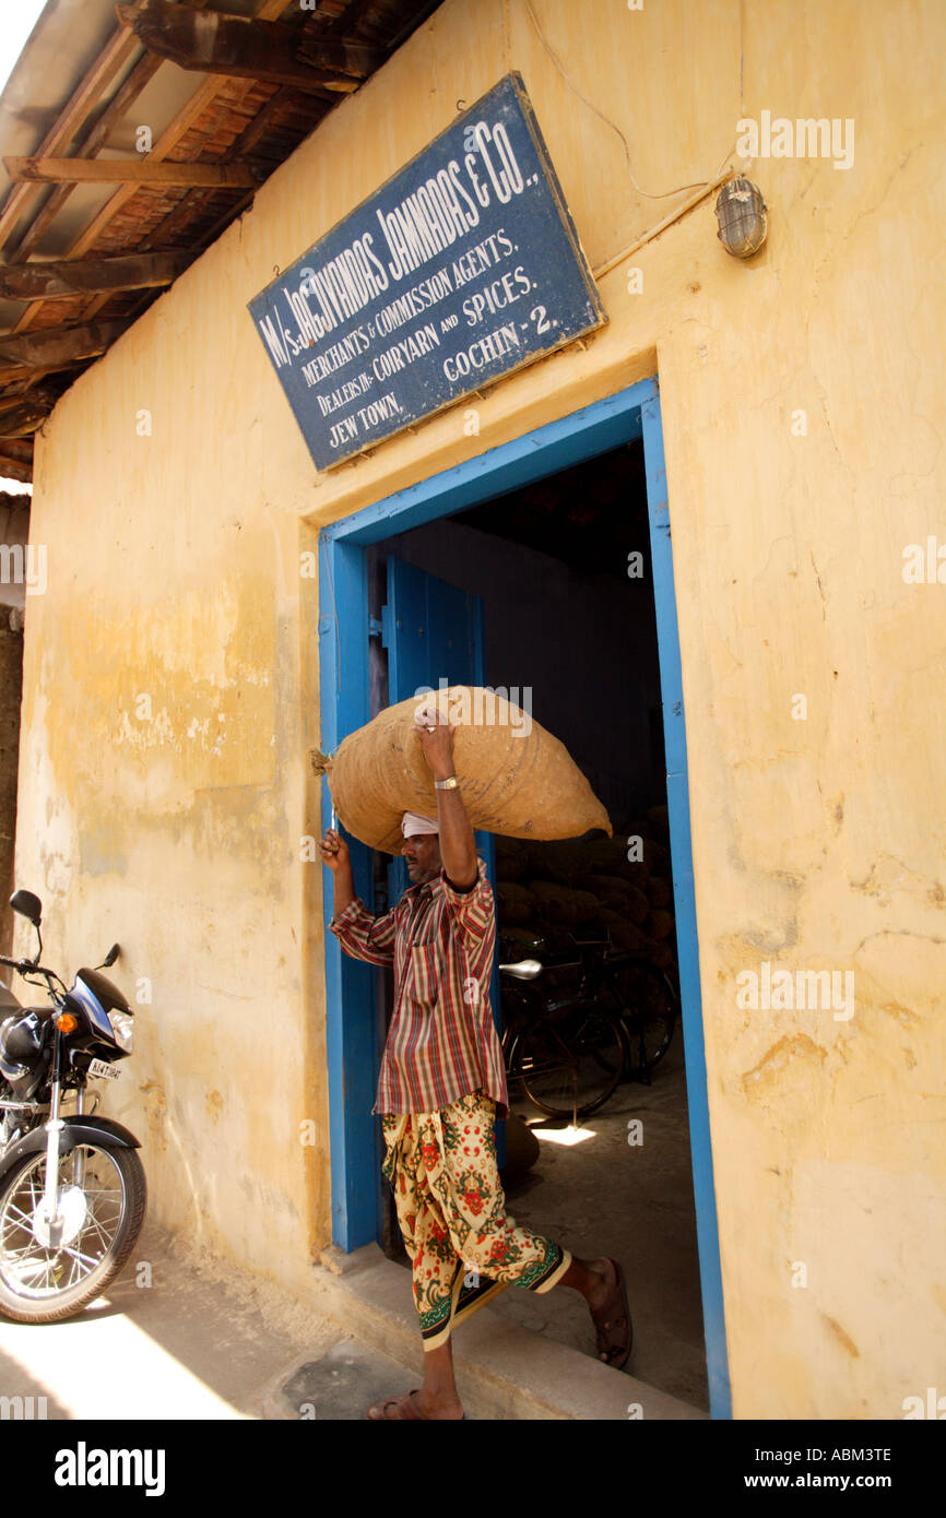
<path id="1" fill-rule="evenodd" d="M 615 1019 L 597 1006 L 544 1017 L 519 1041 L 519 1075 L 530 1102 L 550 1117 L 589 1117 L 612 1096 L 624 1069 Z"/>

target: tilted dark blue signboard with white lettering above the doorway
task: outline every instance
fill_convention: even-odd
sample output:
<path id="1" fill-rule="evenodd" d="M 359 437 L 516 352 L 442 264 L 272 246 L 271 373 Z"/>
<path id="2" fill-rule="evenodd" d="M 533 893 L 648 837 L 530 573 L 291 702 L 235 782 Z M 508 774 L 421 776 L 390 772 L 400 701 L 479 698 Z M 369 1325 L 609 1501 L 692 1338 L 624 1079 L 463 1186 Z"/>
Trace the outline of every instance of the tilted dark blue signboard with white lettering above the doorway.
<path id="1" fill-rule="evenodd" d="M 601 326 L 522 77 L 500 80 L 249 311 L 317 469 Z"/>

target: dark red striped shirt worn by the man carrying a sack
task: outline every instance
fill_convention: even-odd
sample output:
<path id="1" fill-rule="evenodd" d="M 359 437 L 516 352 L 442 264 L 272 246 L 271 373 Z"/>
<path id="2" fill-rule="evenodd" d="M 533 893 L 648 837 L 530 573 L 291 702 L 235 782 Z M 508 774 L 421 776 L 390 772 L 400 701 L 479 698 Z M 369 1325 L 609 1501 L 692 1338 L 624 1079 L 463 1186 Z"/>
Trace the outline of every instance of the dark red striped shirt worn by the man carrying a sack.
<path id="1" fill-rule="evenodd" d="M 477 867 L 469 891 L 457 891 L 440 870 L 408 887 L 383 917 L 355 896 L 328 924 L 352 958 L 393 965 L 375 1113 L 437 1113 L 471 1091 L 492 1096 L 498 1117 L 509 1105 L 489 1000 L 497 912 L 483 859 Z"/>

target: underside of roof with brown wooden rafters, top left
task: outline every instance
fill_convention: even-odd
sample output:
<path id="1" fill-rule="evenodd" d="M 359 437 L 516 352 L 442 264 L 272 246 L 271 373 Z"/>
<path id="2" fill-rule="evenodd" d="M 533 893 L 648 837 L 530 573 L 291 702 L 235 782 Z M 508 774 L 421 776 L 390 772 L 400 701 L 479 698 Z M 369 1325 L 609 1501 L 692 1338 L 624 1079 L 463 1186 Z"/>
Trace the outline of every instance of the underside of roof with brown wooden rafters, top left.
<path id="1" fill-rule="evenodd" d="M 90 8 L 103 3 L 88 0 Z M 23 176 L 0 203 L 0 302 L 23 302 L 6 337 L 0 331 L 0 474 L 6 463 L 23 468 L 32 455 L 29 434 L 80 369 L 167 287 L 169 270 L 176 278 L 210 246 L 322 115 L 439 0 L 319 0 L 317 11 L 302 11 L 298 0 L 260 0 L 251 17 L 217 12 L 225 0 L 108 3 L 131 24 L 115 27 L 43 140 L 26 156 L 3 153 L 0 143 L 9 170 Z M 223 70 L 229 58 L 231 71 L 208 68 L 210 59 L 199 62 L 191 52 L 190 65 L 203 79 L 147 153 L 134 159 L 125 146 L 118 158 L 111 140 L 125 131 L 128 143 L 138 97 L 153 91 L 161 70 L 187 67 L 167 50 L 141 56 L 147 27 L 140 33 L 138 23 L 159 24 L 170 11 L 175 46 L 190 35 L 194 49 L 200 36 L 207 47 L 211 38 L 214 65 Z M 246 39 L 267 43 L 264 70 L 249 67 Z M 85 225 L 71 213 L 68 241 L 59 238 L 50 258 L 50 238 L 76 187 L 106 182 L 115 191 L 90 208 Z M 23 431 L 14 437 L 17 422 Z"/>

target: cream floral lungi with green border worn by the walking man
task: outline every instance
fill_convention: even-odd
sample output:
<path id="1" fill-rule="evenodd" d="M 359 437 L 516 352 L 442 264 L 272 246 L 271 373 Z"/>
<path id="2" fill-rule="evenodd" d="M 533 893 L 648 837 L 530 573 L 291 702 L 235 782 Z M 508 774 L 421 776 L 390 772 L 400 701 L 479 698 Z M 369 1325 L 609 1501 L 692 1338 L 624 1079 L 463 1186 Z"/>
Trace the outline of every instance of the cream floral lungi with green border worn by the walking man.
<path id="1" fill-rule="evenodd" d="M 571 1254 L 506 1216 L 493 1132 L 497 1104 L 484 1091 L 439 1113 L 383 1116 L 398 1222 L 413 1266 L 425 1350 L 507 1286 L 548 1292 Z"/>

